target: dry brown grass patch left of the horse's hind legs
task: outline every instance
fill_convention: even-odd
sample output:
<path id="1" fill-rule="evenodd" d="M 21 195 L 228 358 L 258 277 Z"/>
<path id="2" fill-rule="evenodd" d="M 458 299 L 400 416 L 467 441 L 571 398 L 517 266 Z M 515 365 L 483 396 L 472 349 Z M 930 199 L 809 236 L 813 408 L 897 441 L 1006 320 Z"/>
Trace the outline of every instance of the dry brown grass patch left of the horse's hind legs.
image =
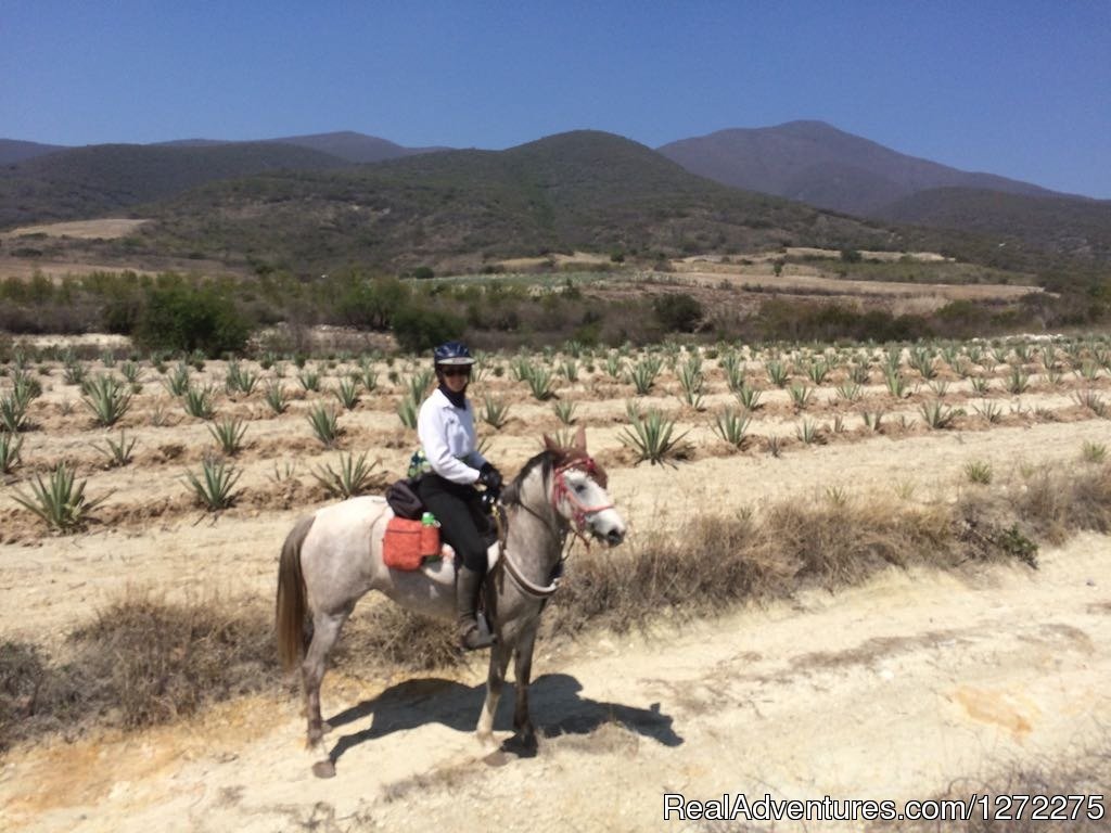
<path id="1" fill-rule="evenodd" d="M 268 608 L 129 593 L 70 633 L 53 659 L 0 644 L 0 749 L 97 723 L 139 729 L 278 681 Z"/>

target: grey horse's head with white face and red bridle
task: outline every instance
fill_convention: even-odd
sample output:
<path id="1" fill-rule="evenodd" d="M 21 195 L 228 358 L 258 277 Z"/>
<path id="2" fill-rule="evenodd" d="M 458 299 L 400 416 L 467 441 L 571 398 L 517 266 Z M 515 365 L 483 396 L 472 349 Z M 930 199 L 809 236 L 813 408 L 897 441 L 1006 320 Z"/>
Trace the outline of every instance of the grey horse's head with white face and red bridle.
<path id="1" fill-rule="evenodd" d="M 605 471 L 587 453 L 587 432 L 579 428 L 570 448 L 562 448 L 544 434 L 552 454 L 552 506 L 575 531 L 593 535 L 610 546 L 624 540 L 625 525 L 605 492 Z"/>

